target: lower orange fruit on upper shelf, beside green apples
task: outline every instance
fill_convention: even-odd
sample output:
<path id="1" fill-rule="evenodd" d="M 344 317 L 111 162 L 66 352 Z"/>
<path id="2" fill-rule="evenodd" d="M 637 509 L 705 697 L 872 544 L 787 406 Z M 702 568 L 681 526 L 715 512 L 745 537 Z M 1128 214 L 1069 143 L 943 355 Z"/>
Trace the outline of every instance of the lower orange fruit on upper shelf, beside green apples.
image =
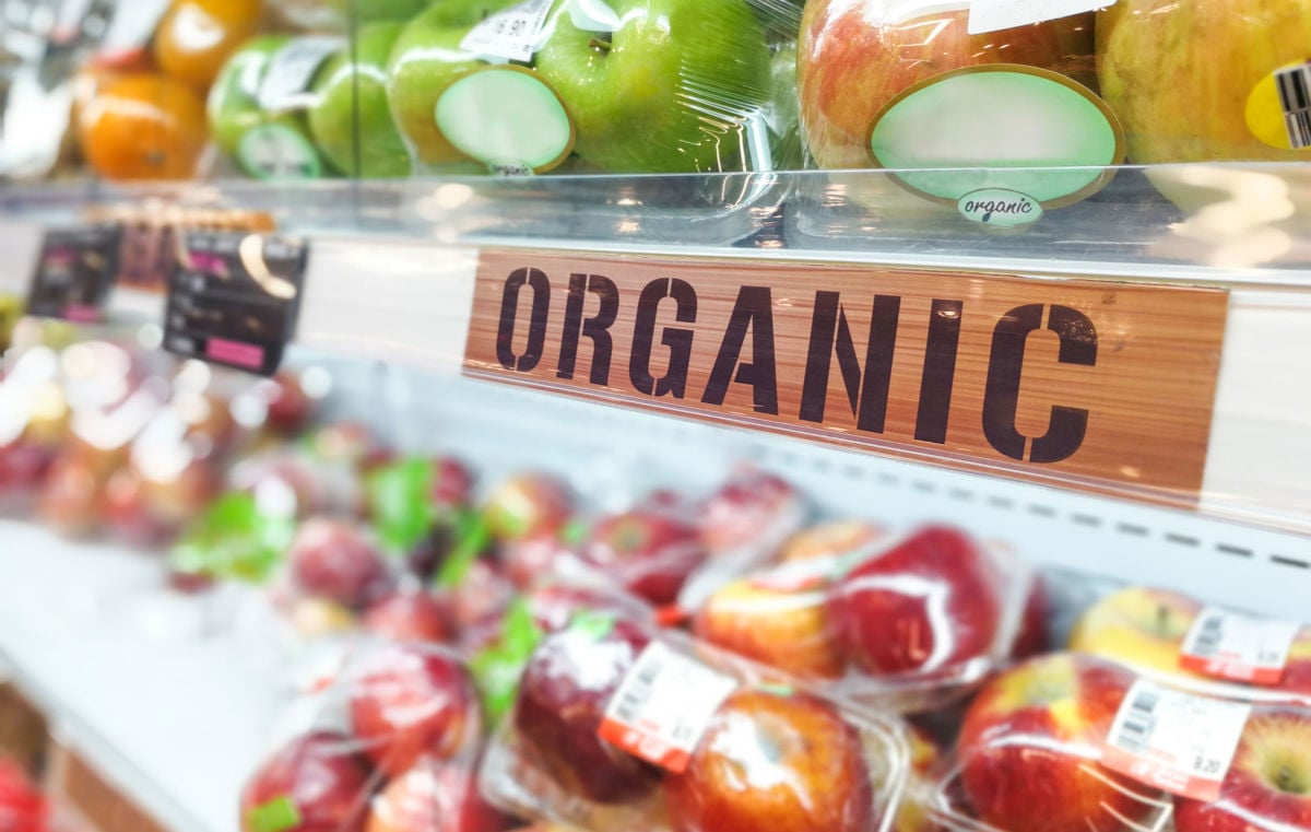
<path id="1" fill-rule="evenodd" d="M 205 102 L 164 75 L 109 80 L 83 108 L 83 156 L 110 180 L 190 178 L 206 143 Z"/>

